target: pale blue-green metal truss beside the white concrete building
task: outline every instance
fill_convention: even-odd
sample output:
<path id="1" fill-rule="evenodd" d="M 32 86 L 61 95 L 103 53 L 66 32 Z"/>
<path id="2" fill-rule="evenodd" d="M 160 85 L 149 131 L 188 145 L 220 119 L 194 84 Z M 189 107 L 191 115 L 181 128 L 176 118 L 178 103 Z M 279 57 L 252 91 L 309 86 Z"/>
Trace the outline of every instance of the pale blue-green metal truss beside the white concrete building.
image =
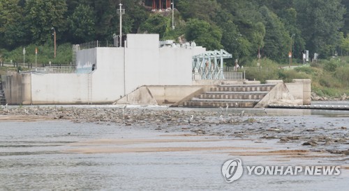
<path id="1" fill-rule="evenodd" d="M 193 78 L 196 74 L 205 80 L 225 79 L 223 74 L 224 58 L 232 58 L 232 54 L 221 49 L 220 51 L 205 51 L 205 53 L 193 56 Z"/>

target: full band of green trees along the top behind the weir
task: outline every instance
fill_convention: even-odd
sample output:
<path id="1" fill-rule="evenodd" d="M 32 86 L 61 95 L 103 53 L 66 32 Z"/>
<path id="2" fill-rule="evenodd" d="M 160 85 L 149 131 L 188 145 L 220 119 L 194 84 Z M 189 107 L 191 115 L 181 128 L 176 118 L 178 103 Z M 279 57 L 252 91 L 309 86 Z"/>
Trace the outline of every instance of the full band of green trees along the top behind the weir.
<path id="1" fill-rule="evenodd" d="M 110 40 L 119 31 L 119 0 L 0 0 L 0 49 L 57 42 Z M 122 0 L 123 33 L 185 38 L 209 50 L 225 49 L 246 62 L 283 62 L 304 50 L 326 58 L 349 53 L 348 0 L 174 0 L 172 12 L 152 12 L 151 1 Z"/>

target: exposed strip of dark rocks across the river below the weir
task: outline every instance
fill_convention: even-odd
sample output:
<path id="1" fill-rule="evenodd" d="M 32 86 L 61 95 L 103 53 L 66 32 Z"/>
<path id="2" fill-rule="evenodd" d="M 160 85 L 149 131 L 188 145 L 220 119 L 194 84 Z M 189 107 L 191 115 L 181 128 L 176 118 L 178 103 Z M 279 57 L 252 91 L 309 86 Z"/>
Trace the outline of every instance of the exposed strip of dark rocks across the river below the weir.
<path id="1" fill-rule="evenodd" d="M 124 108 L 77 106 L 12 106 L 0 108 L 4 120 L 69 120 L 101 125 L 117 124 L 130 128 L 149 128 L 181 135 L 216 135 L 222 138 L 278 140 L 288 147 L 296 144 L 311 151 L 349 155 L 348 115 L 275 115 L 276 110 L 181 108 Z M 191 119 L 191 116 L 192 119 Z"/>

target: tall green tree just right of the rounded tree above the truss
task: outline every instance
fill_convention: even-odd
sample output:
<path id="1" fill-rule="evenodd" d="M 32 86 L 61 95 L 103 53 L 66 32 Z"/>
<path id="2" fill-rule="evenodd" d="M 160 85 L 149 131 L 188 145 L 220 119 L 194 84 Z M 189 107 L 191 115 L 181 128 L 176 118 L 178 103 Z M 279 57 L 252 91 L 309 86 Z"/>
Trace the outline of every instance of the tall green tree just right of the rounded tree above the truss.
<path id="1" fill-rule="evenodd" d="M 218 13 L 216 23 L 223 29 L 222 44 L 230 51 L 233 60 L 239 58 L 239 63 L 250 62 L 256 58 L 258 48 L 264 46 L 265 26 L 258 6 L 253 1 L 217 0 L 222 9 L 230 17 Z M 229 20 L 227 20 L 229 18 Z M 230 28 L 230 25 L 234 25 Z M 230 36 L 230 40 L 225 38 Z M 228 48 L 227 48 L 228 47 Z"/>

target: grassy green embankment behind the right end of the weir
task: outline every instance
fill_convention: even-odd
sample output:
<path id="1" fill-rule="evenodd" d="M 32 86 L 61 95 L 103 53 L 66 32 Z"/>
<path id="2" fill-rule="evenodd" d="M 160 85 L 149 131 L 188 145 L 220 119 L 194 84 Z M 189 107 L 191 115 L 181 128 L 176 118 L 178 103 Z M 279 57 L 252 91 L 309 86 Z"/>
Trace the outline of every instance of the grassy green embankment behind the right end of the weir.
<path id="1" fill-rule="evenodd" d="M 341 97 L 349 94 L 349 57 L 331 58 L 329 60 L 318 60 L 295 69 L 280 69 L 279 64 L 272 60 L 260 61 L 260 70 L 246 70 L 246 78 L 259 80 L 262 83 L 267 79 L 282 79 L 290 82 L 295 78 L 311 79 L 311 89 L 319 96 Z M 255 63 L 251 63 L 255 66 Z"/>

